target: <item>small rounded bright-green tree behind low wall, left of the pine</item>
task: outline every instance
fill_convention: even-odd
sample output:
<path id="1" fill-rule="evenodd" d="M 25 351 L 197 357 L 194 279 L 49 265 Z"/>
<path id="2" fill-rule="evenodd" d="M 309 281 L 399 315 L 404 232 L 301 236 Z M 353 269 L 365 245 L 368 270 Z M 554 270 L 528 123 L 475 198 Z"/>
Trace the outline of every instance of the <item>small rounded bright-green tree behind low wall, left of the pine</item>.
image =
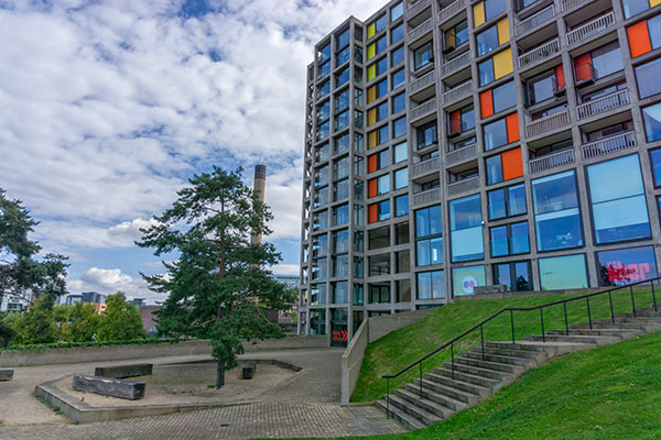
<path id="1" fill-rule="evenodd" d="M 123 293 L 110 295 L 106 299 L 106 311 L 98 324 L 97 340 L 128 341 L 138 338 L 144 338 L 140 310 L 127 301 Z"/>

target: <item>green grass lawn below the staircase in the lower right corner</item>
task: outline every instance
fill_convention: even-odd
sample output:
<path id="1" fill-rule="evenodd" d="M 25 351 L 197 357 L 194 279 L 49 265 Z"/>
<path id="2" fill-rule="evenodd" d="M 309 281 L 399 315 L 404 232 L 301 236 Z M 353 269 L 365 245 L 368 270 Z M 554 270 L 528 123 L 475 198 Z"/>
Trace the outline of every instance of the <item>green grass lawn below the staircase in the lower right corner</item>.
<path id="1" fill-rule="evenodd" d="M 379 439 L 661 439 L 661 332 L 564 355 L 445 422 Z"/>

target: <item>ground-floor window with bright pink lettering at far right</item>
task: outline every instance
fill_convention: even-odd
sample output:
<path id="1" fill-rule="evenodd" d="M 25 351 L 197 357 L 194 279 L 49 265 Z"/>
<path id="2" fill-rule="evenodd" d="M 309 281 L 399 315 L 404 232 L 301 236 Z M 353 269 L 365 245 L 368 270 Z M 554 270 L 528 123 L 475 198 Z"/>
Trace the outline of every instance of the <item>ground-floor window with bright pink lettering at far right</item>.
<path id="1" fill-rule="evenodd" d="M 652 246 L 597 252 L 599 286 L 624 286 L 655 278 L 657 261 Z"/>

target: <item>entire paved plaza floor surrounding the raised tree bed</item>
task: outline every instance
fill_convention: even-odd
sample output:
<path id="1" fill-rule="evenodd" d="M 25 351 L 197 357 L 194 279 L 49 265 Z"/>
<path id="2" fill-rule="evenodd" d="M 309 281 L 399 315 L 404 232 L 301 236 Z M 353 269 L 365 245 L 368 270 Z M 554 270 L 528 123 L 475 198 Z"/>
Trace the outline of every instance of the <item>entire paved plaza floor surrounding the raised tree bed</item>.
<path id="1" fill-rule="evenodd" d="M 339 406 L 342 350 L 250 353 L 241 359 L 274 359 L 304 370 L 260 396 L 259 403 L 167 416 L 73 425 L 39 403 L 36 383 L 98 363 L 15 369 L 15 382 L 0 385 L 0 439 L 250 439 L 256 437 L 338 437 L 403 432 L 371 406 Z M 154 364 L 208 356 L 141 360 Z M 123 361 L 121 363 L 130 363 Z M 6 385 L 11 384 L 11 389 Z"/>

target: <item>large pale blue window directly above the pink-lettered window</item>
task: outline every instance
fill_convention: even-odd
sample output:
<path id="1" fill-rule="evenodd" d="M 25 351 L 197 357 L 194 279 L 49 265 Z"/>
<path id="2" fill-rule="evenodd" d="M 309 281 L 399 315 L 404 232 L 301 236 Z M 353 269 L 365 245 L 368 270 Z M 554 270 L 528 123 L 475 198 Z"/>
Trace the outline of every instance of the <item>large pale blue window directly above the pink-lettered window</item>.
<path id="1" fill-rule="evenodd" d="M 589 165 L 586 169 L 595 242 L 604 244 L 650 238 L 638 154 Z"/>

